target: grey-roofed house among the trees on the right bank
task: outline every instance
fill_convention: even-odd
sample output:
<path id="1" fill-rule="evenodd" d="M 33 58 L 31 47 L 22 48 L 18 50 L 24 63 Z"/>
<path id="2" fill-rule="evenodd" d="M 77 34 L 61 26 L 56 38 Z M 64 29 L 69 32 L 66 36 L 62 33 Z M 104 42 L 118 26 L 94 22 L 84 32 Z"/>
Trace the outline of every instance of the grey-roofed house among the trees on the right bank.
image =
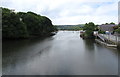
<path id="1" fill-rule="evenodd" d="M 114 26 L 116 26 L 116 25 L 113 25 L 113 24 L 104 24 L 104 25 L 99 25 L 98 26 L 98 28 L 99 28 L 99 30 L 101 30 L 101 31 L 109 31 L 110 33 L 113 33 L 113 31 L 114 31 Z"/>

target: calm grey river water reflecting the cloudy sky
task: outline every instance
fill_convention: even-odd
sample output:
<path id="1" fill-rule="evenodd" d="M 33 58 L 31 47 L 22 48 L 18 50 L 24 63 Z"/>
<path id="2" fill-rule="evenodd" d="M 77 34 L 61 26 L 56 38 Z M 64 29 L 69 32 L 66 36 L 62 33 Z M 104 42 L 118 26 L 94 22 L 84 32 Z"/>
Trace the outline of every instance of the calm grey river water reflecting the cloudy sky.
<path id="1" fill-rule="evenodd" d="M 3 42 L 3 75 L 117 75 L 118 51 L 83 40 L 78 31 Z"/>

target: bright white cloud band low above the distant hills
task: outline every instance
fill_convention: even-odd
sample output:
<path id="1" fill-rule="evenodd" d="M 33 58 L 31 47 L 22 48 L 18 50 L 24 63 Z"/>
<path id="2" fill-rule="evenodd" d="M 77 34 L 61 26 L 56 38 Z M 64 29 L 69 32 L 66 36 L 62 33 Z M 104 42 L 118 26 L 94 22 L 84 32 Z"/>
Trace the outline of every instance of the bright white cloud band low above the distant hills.
<path id="1" fill-rule="evenodd" d="M 74 21 L 75 20 L 75 21 Z M 54 19 L 53 23 L 56 24 L 66 24 L 66 25 L 74 25 L 74 24 L 85 24 L 88 22 L 95 22 L 96 24 L 116 22 L 117 17 L 115 16 L 73 16 L 73 17 L 63 17 L 59 19 Z M 61 23 L 60 23 L 61 22 Z"/>

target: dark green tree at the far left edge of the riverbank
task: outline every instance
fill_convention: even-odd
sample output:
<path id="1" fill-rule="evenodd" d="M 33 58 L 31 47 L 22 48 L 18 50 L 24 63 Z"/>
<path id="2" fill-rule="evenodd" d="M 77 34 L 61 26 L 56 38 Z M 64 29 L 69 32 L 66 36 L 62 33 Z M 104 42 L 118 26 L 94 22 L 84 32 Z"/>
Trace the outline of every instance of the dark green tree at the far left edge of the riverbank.
<path id="1" fill-rule="evenodd" d="M 26 25 L 17 14 L 7 8 L 2 8 L 2 33 L 3 38 L 28 37 Z"/>

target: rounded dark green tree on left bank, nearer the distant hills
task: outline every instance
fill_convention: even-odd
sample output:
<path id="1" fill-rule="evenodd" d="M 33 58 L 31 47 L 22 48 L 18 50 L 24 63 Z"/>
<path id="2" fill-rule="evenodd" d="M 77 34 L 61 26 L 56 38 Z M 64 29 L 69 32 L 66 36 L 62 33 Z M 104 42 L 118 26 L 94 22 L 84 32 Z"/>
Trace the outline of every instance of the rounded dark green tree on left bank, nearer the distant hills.
<path id="1" fill-rule="evenodd" d="M 49 18 L 37 15 L 33 12 L 19 13 L 23 22 L 27 25 L 30 35 L 45 35 L 54 31 L 54 26 Z"/>

